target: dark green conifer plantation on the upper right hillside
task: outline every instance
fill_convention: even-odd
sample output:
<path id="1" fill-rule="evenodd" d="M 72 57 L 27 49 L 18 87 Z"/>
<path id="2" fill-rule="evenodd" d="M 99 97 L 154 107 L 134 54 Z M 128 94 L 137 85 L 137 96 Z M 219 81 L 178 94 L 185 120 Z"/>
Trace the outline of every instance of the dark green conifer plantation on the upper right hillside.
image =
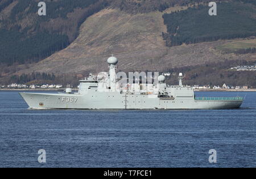
<path id="1" fill-rule="evenodd" d="M 252 3 L 255 1 L 218 3 L 217 16 L 210 16 L 209 7 L 204 5 L 164 14 L 168 32 L 163 38 L 167 46 L 176 46 L 256 36 L 256 6 Z"/>

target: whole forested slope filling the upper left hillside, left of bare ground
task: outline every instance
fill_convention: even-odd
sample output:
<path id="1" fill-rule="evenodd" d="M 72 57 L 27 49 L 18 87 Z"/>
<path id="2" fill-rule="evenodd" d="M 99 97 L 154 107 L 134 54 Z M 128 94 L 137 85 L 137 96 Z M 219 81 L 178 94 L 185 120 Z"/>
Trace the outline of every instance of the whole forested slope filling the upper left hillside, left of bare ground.
<path id="1" fill-rule="evenodd" d="M 0 14 L 5 8 L 14 5 L 10 8 L 9 16 L 0 20 L 0 65 L 38 62 L 66 48 L 75 40 L 81 23 L 107 5 L 103 0 L 58 0 L 46 3 L 46 16 L 37 14 L 38 1 L 3 0 L 0 3 Z M 84 11 L 75 13 L 76 8 L 84 8 Z M 75 22 L 68 19 L 69 13 L 75 13 Z M 23 22 L 30 17 L 34 22 Z M 54 19 L 64 21 L 62 24 L 48 24 Z"/>

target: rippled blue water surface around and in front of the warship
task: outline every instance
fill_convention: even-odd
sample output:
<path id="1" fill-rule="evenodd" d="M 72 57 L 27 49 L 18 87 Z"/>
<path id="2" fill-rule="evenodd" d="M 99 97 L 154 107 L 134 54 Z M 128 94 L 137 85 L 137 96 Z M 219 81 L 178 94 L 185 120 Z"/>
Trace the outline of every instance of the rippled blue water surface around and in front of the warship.
<path id="1" fill-rule="evenodd" d="M 246 99 L 229 110 L 28 110 L 1 91 L 0 167 L 256 167 L 256 92 L 196 94 Z"/>

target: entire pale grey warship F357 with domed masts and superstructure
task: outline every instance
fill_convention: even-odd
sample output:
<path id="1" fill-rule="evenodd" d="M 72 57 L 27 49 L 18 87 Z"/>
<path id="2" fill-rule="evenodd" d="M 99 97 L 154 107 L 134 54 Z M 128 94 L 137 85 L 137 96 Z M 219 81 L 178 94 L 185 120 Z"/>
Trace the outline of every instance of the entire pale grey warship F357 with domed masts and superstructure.
<path id="1" fill-rule="evenodd" d="M 118 59 L 108 58 L 109 73 L 90 74 L 80 80 L 79 91 L 67 88 L 63 93 L 27 93 L 20 95 L 31 109 L 233 109 L 240 108 L 243 97 L 196 97 L 193 88 L 182 84 L 168 86 L 165 76 L 157 83 L 118 83 Z"/>

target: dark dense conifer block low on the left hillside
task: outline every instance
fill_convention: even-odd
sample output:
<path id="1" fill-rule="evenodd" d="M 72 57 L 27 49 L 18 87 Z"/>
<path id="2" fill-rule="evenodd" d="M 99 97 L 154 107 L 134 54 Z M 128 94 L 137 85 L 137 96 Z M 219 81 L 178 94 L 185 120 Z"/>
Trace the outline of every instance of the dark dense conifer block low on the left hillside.
<path id="1" fill-rule="evenodd" d="M 46 32 L 28 37 L 23 32 L 0 29 L 0 35 L 0 62 L 7 65 L 38 62 L 69 45 L 68 36 Z"/>

